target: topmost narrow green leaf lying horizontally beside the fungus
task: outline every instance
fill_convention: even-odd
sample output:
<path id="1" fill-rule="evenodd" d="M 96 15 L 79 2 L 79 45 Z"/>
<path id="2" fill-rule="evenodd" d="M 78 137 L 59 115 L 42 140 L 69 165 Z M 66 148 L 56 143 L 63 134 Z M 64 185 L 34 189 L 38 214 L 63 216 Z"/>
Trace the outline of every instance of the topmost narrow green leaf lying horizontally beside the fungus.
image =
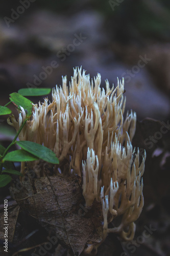
<path id="1" fill-rule="evenodd" d="M 18 91 L 22 96 L 42 96 L 51 93 L 51 88 L 23 88 Z"/>

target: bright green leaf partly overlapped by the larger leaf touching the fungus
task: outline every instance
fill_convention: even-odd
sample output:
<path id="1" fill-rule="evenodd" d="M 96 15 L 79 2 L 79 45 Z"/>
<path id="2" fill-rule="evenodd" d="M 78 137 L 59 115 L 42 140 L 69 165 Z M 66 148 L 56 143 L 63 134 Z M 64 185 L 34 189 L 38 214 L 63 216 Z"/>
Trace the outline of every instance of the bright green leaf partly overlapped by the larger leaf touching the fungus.
<path id="1" fill-rule="evenodd" d="M 25 162 L 25 161 L 34 161 L 37 160 L 38 157 L 33 156 L 32 154 L 28 153 L 25 150 L 15 150 L 3 158 L 4 161 L 12 161 L 12 162 Z"/>

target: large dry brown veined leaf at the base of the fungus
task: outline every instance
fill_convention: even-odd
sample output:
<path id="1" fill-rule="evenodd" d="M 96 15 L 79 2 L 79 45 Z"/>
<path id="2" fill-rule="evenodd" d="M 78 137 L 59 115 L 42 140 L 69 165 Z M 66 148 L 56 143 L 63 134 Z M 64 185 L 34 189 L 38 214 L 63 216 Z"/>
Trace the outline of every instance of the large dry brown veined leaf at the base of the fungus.
<path id="1" fill-rule="evenodd" d="M 21 189 L 10 189 L 17 203 L 48 232 L 55 232 L 75 255 L 80 255 L 87 243 L 100 243 L 103 234 L 101 203 L 94 201 L 91 209 L 83 208 L 79 182 L 76 176 L 50 176 L 21 182 Z"/>

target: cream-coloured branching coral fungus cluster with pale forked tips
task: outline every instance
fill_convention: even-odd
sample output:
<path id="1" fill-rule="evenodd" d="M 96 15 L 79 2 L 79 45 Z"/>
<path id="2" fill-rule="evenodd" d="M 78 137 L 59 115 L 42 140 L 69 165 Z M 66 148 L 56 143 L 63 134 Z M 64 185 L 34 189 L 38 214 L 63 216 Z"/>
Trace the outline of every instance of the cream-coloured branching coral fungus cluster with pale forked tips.
<path id="1" fill-rule="evenodd" d="M 141 176 L 145 155 L 139 164 L 139 151 L 135 154 L 132 138 L 136 128 L 136 114 L 125 111 L 124 79 L 117 79 L 117 87 L 100 88 L 101 75 L 91 80 L 85 71 L 74 69 L 69 87 L 66 77 L 61 87 L 52 93 L 52 102 L 33 106 L 31 120 L 19 134 L 20 140 L 34 141 L 53 150 L 60 164 L 54 166 L 54 175 L 77 174 L 82 178 L 86 206 L 94 200 L 102 203 L 103 238 L 108 232 L 117 232 L 125 240 L 134 237 L 134 221 L 143 207 Z M 16 121 L 8 122 L 18 131 L 26 114 L 23 109 Z M 44 163 L 29 164 L 38 177 L 45 176 Z M 25 164 L 21 166 L 24 172 Z M 121 216 L 114 228 L 108 222 Z M 116 224 L 115 224 L 116 225 Z"/>

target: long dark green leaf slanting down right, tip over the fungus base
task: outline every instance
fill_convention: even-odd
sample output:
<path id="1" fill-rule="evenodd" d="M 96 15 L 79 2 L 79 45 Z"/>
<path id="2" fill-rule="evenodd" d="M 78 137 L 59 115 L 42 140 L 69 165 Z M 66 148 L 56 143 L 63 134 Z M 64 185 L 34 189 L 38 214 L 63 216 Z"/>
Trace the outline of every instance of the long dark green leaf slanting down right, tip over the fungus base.
<path id="1" fill-rule="evenodd" d="M 43 159 L 46 162 L 58 164 L 59 160 L 56 157 L 55 153 L 45 146 L 37 144 L 32 141 L 17 141 L 17 145 L 23 148 L 23 150 L 28 151 L 34 156 Z"/>

